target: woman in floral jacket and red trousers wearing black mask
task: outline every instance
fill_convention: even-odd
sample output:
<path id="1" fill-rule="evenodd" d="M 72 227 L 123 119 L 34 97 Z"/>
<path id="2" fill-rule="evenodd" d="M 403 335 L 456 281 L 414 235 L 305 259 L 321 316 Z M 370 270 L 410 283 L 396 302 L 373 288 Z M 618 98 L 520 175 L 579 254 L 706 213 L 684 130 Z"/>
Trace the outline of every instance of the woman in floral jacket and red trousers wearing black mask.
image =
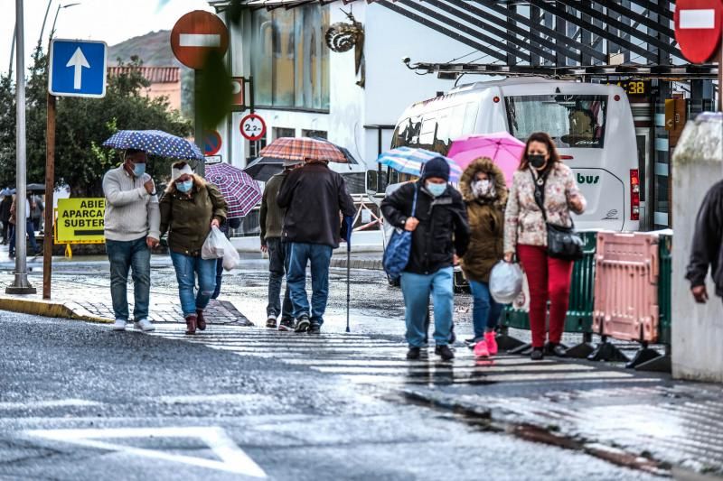
<path id="1" fill-rule="evenodd" d="M 543 132 L 527 139 L 520 167 L 512 177 L 504 214 L 504 260 L 512 262 L 516 251 L 530 285 L 531 358 L 536 361 L 544 357 L 545 351 L 565 356 L 560 339 L 574 264 L 548 255 L 547 223 L 540 205 L 545 208 L 547 222 L 565 227 L 572 225 L 570 212 L 582 214 L 586 207 L 572 171 L 560 162 L 555 144 Z M 545 345 L 548 301 L 549 343 Z"/>

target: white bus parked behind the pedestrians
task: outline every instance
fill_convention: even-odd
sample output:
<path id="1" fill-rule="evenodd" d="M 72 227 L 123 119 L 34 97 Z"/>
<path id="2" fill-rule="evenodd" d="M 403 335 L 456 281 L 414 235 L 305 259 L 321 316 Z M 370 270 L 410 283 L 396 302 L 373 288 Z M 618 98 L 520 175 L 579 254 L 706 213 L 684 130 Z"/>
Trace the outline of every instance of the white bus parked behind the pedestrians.
<path id="1" fill-rule="evenodd" d="M 623 88 L 539 78 L 464 85 L 409 106 L 391 147 L 446 153 L 463 135 L 501 131 L 522 142 L 533 132 L 550 134 L 587 199 L 577 228 L 638 230 L 638 151 Z"/>

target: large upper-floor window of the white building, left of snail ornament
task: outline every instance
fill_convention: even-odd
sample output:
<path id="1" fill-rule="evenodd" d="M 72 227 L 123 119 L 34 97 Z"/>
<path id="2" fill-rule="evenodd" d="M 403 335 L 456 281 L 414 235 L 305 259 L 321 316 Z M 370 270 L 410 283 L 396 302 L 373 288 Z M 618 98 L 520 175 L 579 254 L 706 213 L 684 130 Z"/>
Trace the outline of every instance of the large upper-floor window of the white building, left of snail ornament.
<path id="1" fill-rule="evenodd" d="M 329 7 L 252 12 L 251 73 L 257 106 L 329 109 Z"/>

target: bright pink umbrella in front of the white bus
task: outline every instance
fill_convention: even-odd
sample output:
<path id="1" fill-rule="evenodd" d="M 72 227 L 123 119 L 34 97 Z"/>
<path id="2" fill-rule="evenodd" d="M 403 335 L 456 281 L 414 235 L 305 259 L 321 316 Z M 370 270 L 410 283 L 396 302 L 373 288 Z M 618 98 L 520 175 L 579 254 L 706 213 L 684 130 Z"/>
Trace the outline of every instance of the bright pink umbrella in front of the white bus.
<path id="1" fill-rule="evenodd" d="M 452 141 L 447 157 L 465 169 L 480 157 L 489 157 L 502 170 L 507 185 L 512 185 L 512 174 L 520 165 L 525 143 L 506 132 L 467 135 Z"/>

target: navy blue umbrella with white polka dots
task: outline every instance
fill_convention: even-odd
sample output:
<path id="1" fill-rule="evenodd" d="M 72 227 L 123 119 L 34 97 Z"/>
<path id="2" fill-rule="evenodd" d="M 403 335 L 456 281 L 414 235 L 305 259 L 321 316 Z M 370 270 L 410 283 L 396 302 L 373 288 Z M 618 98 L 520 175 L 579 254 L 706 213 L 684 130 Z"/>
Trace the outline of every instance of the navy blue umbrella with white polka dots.
<path id="1" fill-rule="evenodd" d="M 187 161 L 202 161 L 198 145 L 161 130 L 119 130 L 103 143 L 115 149 L 137 149 L 146 153 Z"/>

